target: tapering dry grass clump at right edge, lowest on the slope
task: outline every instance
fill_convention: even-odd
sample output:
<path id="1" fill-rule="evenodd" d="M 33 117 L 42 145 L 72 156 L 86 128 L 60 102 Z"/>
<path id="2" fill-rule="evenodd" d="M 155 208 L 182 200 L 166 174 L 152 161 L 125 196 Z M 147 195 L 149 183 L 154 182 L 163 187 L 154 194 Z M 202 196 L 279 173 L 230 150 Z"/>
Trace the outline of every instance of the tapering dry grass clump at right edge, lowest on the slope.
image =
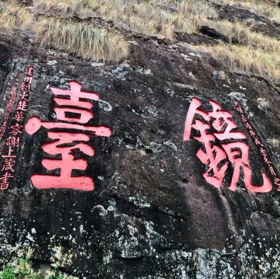
<path id="1" fill-rule="evenodd" d="M 201 48 L 236 73 L 257 75 L 272 83 L 280 82 L 280 56 L 275 53 L 238 45 L 220 44 Z"/>

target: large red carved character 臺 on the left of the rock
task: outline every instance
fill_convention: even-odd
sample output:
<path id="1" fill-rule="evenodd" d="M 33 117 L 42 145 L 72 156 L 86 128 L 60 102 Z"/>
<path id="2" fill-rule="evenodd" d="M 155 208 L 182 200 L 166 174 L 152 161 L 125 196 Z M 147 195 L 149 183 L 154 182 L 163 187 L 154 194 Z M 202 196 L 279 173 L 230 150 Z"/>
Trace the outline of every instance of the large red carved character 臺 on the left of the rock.
<path id="1" fill-rule="evenodd" d="M 48 132 L 48 137 L 55 141 L 48 142 L 42 149 L 50 155 L 60 155 L 61 159 L 44 158 L 42 165 L 47 170 L 60 169 L 60 174 L 31 176 L 31 181 L 36 188 L 70 188 L 76 190 L 93 190 L 94 182 L 89 176 L 73 176 L 73 170 L 86 170 L 87 161 L 76 158 L 77 152 L 82 152 L 88 156 L 94 155 L 94 149 L 86 142 L 90 140 L 90 135 L 110 137 L 111 130 L 104 126 L 85 126 L 80 123 L 87 123 L 93 118 L 90 109 L 93 107 L 91 101 L 98 100 L 97 93 L 81 91 L 82 85 L 72 81 L 70 90 L 61 90 L 51 87 L 51 91 L 56 95 L 55 102 L 59 105 L 54 108 L 57 119 L 74 123 L 45 122 L 37 117 L 31 117 L 25 124 L 25 130 L 29 134 L 37 132 L 41 127 L 46 129 L 60 128 L 64 130 L 80 130 L 81 132 Z M 62 96 L 68 96 L 63 98 Z M 73 108 L 74 106 L 74 108 Z M 70 114 L 69 114 L 70 113 Z M 70 115 L 70 116 L 69 116 Z M 74 116 L 73 116 L 74 115 Z M 90 132 L 90 135 L 85 132 Z"/>

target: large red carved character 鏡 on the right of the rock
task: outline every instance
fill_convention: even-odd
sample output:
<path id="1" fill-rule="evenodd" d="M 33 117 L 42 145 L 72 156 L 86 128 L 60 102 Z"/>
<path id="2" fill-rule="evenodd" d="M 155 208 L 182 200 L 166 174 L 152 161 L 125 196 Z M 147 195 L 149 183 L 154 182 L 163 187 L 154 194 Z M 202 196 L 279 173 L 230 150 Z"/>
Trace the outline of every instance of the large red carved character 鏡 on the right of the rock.
<path id="1" fill-rule="evenodd" d="M 197 151 L 197 157 L 208 167 L 203 174 L 205 180 L 209 184 L 220 188 L 223 185 L 223 179 L 230 162 L 234 171 L 229 189 L 233 191 L 236 189 L 240 179 L 240 169 L 243 168 L 244 182 L 248 190 L 253 192 L 270 191 L 272 184 L 264 171 L 262 171 L 263 185 L 256 186 L 251 182 L 252 170 L 249 165 L 249 146 L 241 141 L 246 139 L 246 135 L 240 131 L 233 131 L 237 128 L 237 125 L 232 120 L 232 113 L 222 110 L 218 102 L 213 100 L 209 102 L 213 109 L 203 111 L 199 108 L 200 100 L 192 99 L 185 120 L 183 135 L 183 140 L 188 141 L 192 128 L 199 132 L 199 135 L 193 137 L 203 143 L 204 146 L 203 149 L 200 148 Z M 217 140 L 221 141 L 222 148 L 217 145 Z M 224 142 L 224 140 L 227 140 L 227 142 Z M 233 142 L 228 143 L 228 140 L 233 140 Z"/>

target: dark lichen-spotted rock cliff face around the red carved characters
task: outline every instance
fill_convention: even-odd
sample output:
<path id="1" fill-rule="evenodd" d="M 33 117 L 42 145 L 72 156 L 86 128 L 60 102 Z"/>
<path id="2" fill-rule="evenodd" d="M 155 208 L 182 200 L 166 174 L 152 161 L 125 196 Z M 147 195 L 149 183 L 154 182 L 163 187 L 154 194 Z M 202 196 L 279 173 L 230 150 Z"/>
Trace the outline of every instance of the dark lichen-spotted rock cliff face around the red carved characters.
<path id="1" fill-rule="evenodd" d="M 271 27 L 279 35 L 278 29 Z M 213 40 L 211 37 L 178 35 L 182 38 L 173 44 L 126 36 L 130 41 L 128 59 L 103 64 L 46 49 L 28 34 L 0 35 L 2 119 L 11 90 L 16 88 L 0 142 L 0 180 L 3 188 L 7 187 L 0 191 L 1 266 L 28 255 L 34 269 L 44 270 L 55 264 L 68 278 L 279 278 L 279 90 L 261 78 L 227 71 L 209 54 L 183 43 L 207 43 Z M 34 67 L 31 89 L 20 90 L 28 77 L 24 67 L 29 66 Z M 68 90 L 71 81 L 81 84 L 83 91 L 100 96 L 98 101 L 92 100 L 94 117 L 78 124 L 108 127 L 112 135 L 84 132 L 89 139 L 82 141 L 94 148 L 94 156 L 75 147 L 75 140 L 68 152 L 75 156 L 70 162 L 72 177 L 92 178 L 94 190 L 36 188 L 31 176 L 60 174 L 59 167 L 47 171 L 42 160 L 61 159 L 61 153 L 43 151 L 42 146 L 52 141 L 49 129 L 41 127 L 30 134 L 24 125 L 31 117 L 65 122 L 57 119 L 50 87 Z M 28 94 L 28 101 L 18 110 L 23 92 Z M 209 114 L 213 110 L 209 100 L 221 104 L 220 110 L 232 113 L 237 125 L 233 131 L 244 135 L 235 140 L 230 136 L 225 140 L 215 138 L 211 148 L 213 144 L 218 147 L 211 151 L 212 161 L 209 153 L 204 162 L 197 156 L 199 149 L 205 151 L 197 129 L 192 127 L 190 138 L 183 141 L 186 115 L 194 98 Z M 16 111 L 22 113 L 18 122 Z M 72 119 L 75 113 L 69 113 L 65 117 Z M 213 115 L 208 136 L 215 131 Z M 223 124 L 228 119 L 224 114 L 218 121 Z M 65 129 L 52 131 L 57 135 Z M 73 136 L 79 129 L 70 131 Z M 18 147 L 6 144 L 12 136 L 19 138 Z M 238 144 L 232 146 L 231 152 L 237 152 L 233 162 L 229 153 L 225 158 L 221 155 L 227 166 L 222 186 L 209 183 L 215 172 L 208 174 L 208 182 L 205 178 L 209 162 L 222 154 L 222 144 L 231 142 L 249 146 L 249 164 L 242 165 L 235 191 L 228 186 L 238 158 L 246 161 L 246 151 Z M 67 144 L 62 144 L 60 148 L 66 148 Z M 78 158 L 87 162 L 83 170 Z M 8 172 L 5 160 L 9 159 L 14 162 L 13 171 Z M 219 162 L 215 164 L 222 167 Z M 248 168 L 252 170 L 252 186 L 263 185 L 264 171 L 272 190 L 250 190 L 250 183 L 244 182 Z M 8 186 L 4 185 L 7 173 L 11 175 Z M 40 178 L 38 185 L 48 185 L 48 180 Z"/>

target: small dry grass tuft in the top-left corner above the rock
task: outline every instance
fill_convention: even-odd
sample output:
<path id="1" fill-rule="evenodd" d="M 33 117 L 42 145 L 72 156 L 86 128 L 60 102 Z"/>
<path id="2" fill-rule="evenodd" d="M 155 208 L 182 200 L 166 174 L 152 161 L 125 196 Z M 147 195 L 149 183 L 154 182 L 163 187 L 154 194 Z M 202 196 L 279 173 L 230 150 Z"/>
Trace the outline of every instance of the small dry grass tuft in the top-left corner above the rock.
<path id="1" fill-rule="evenodd" d="M 15 1 L 0 1 L 0 30 L 26 29 L 34 20 L 34 15 Z"/>

